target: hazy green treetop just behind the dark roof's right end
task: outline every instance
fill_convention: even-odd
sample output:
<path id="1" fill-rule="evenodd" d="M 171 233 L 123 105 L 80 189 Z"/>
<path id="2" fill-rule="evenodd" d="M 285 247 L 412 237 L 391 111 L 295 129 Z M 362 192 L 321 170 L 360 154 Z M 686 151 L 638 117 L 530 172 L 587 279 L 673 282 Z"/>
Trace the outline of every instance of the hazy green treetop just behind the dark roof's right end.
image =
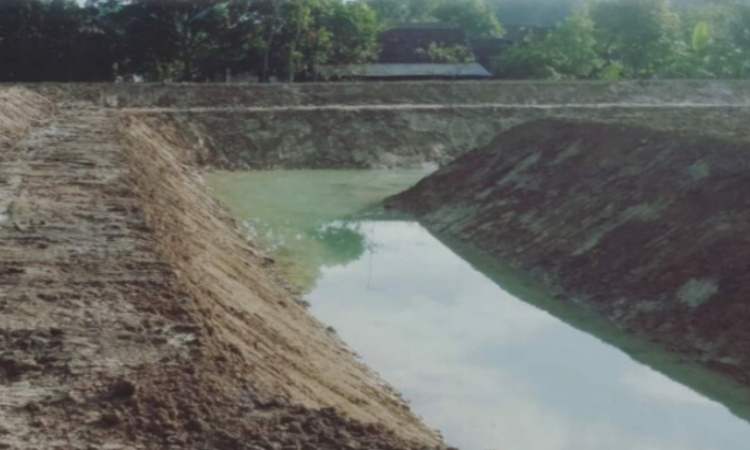
<path id="1" fill-rule="evenodd" d="M 503 34 L 497 14 L 484 0 L 443 0 L 432 16 L 461 28 L 470 37 L 497 37 Z"/>

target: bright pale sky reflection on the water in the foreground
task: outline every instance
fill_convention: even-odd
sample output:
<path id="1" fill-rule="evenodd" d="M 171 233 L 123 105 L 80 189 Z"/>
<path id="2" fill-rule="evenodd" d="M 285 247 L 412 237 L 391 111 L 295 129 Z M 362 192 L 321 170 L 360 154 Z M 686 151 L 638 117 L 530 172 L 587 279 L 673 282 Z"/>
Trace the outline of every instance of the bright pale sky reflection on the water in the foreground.
<path id="1" fill-rule="evenodd" d="M 307 299 L 413 408 L 465 449 L 746 449 L 750 427 L 519 301 L 407 222 L 327 267 Z"/>

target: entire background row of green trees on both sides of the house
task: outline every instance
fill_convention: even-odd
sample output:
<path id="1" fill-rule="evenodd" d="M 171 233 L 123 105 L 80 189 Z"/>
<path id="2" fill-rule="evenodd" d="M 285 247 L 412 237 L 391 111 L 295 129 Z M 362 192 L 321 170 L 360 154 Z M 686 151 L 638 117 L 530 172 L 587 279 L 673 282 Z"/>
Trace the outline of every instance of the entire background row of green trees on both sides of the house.
<path id="1" fill-rule="evenodd" d="M 396 24 L 500 37 L 503 17 L 557 24 L 495 58 L 500 78 L 750 74 L 743 0 L 2 0 L 0 81 L 314 80 L 374 60 Z"/>

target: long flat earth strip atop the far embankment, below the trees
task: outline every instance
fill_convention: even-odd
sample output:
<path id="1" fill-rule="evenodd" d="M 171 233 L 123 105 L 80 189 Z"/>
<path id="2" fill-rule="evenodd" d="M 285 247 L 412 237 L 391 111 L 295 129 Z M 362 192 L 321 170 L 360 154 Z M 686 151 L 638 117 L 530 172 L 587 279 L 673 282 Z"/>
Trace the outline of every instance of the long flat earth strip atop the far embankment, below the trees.
<path id="1" fill-rule="evenodd" d="M 750 105 L 747 81 L 376 82 L 302 84 L 41 84 L 48 97 L 119 108 L 323 105 Z"/>

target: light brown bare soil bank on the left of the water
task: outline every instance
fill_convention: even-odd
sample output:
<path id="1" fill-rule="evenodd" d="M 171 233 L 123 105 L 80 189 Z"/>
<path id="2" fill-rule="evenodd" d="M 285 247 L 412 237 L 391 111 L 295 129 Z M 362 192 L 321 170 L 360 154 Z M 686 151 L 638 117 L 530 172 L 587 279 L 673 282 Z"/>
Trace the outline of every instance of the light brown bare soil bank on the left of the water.
<path id="1" fill-rule="evenodd" d="M 0 448 L 440 446 L 243 241 L 173 129 L 10 94 Z"/>

